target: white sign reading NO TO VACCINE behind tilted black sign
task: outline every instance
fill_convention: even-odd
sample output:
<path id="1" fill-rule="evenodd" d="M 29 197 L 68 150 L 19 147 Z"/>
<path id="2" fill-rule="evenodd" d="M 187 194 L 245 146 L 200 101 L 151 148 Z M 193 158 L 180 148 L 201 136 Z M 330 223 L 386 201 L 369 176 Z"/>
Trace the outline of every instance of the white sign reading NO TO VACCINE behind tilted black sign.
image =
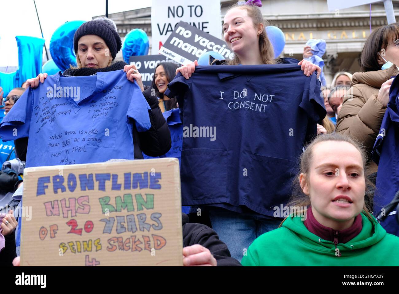
<path id="1" fill-rule="evenodd" d="M 152 0 L 152 54 L 158 54 L 181 20 L 215 37 L 221 36 L 220 0 Z"/>

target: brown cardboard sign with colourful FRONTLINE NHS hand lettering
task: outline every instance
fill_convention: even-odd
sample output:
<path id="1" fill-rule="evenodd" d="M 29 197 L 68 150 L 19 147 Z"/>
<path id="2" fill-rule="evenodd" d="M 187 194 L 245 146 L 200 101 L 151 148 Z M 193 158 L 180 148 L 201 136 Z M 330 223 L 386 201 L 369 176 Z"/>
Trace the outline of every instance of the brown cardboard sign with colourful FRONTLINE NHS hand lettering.
<path id="1" fill-rule="evenodd" d="M 24 171 L 22 266 L 181 266 L 176 158 Z"/>

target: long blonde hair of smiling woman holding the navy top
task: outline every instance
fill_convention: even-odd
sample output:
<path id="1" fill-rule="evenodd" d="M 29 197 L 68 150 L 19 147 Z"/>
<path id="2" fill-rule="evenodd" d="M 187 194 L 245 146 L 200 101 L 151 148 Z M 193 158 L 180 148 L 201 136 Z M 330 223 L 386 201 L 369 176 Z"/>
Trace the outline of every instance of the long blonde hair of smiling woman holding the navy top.
<path id="1" fill-rule="evenodd" d="M 246 9 L 248 12 L 248 16 L 252 18 L 253 25 L 256 28 L 259 24 L 263 24 L 262 33 L 259 36 L 259 51 L 261 52 L 261 60 L 263 64 L 276 64 L 274 58 L 274 50 L 273 46 L 267 37 L 266 34 L 266 27 L 269 25 L 267 20 L 263 18 L 261 10 L 257 6 L 253 5 L 233 5 L 229 8 L 229 10 L 233 8 L 241 8 Z M 229 11 L 227 10 L 227 11 Z M 229 65 L 237 65 L 240 63 L 239 58 L 237 55 L 234 54 L 233 60 L 229 60 Z"/>

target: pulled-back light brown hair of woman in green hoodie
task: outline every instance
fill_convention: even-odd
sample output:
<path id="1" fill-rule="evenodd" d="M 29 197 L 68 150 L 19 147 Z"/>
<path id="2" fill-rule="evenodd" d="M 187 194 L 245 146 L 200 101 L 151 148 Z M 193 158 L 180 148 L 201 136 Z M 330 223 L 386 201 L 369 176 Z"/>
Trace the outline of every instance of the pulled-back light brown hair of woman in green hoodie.
<path id="1" fill-rule="evenodd" d="M 367 167 L 366 167 L 366 152 L 363 149 L 363 146 L 361 145 L 361 143 L 354 141 L 354 139 L 352 139 L 351 137 L 348 136 L 344 136 L 341 135 L 339 133 L 331 133 L 331 134 L 323 134 L 323 135 L 319 135 L 316 137 L 316 139 L 314 139 L 312 141 L 312 143 L 310 143 L 305 151 L 302 153 L 301 157 L 300 157 L 300 167 L 299 167 L 299 172 L 296 175 L 296 177 L 294 178 L 292 185 L 293 185 L 293 193 L 292 193 L 292 197 L 290 198 L 290 201 L 288 202 L 288 204 L 286 205 L 287 207 L 309 207 L 310 206 L 310 198 L 308 195 L 304 194 L 302 191 L 302 188 L 300 187 L 300 183 L 299 183 L 299 175 L 301 173 L 308 175 L 309 174 L 309 169 L 310 169 L 310 163 L 312 161 L 313 158 L 313 149 L 314 146 L 318 143 L 321 142 L 327 142 L 327 141 L 331 141 L 331 142 L 348 142 L 350 144 L 352 144 L 356 149 L 358 149 L 362 161 L 363 161 L 363 176 L 365 179 L 365 194 L 369 193 L 369 188 L 373 187 L 373 184 L 371 183 L 371 181 L 365 176 L 367 174 Z M 364 202 L 363 205 L 363 213 L 366 215 L 366 217 L 370 220 L 373 220 L 373 217 L 371 215 L 371 213 L 369 212 L 368 209 L 369 205 Z M 286 220 L 286 218 L 284 219 L 284 221 Z M 284 222 L 282 221 L 280 226 L 282 226 L 282 223 Z"/>

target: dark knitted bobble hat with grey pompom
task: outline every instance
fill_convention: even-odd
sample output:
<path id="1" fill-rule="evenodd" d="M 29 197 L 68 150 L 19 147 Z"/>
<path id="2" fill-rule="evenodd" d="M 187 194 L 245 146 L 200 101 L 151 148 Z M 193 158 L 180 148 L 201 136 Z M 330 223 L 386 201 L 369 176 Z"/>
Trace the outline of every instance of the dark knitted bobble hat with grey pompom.
<path id="1" fill-rule="evenodd" d="M 122 47 L 122 40 L 120 40 L 117 25 L 113 20 L 109 18 L 96 18 L 83 23 L 73 36 L 73 48 L 75 49 L 75 53 L 77 53 L 77 42 L 85 35 L 97 35 L 103 38 L 111 51 L 112 59 L 115 60 L 115 56 Z"/>

